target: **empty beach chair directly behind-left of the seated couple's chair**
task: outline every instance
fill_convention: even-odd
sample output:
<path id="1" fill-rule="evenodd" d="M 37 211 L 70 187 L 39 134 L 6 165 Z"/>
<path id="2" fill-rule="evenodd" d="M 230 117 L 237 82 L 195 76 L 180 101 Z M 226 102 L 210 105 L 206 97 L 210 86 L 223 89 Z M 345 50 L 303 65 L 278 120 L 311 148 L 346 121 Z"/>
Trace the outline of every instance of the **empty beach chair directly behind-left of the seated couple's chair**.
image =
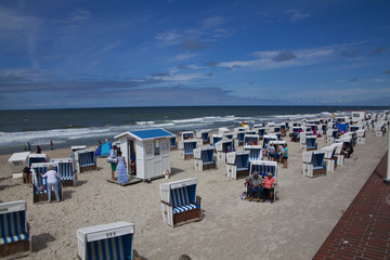
<path id="1" fill-rule="evenodd" d="M 243 151 L 226 154 L 227 178 L 237 180 L 249 176 L 249 151 Z"/>

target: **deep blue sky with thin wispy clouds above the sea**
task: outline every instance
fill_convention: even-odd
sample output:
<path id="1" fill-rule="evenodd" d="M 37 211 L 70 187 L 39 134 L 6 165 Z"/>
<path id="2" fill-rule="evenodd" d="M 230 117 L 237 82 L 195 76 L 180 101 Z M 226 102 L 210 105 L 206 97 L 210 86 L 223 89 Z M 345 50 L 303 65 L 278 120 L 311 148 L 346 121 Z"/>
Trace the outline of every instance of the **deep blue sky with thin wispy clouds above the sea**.
<path id="1" fill-rule="evenodd" d="M 0 109 L 390 105 L 390 1 L 0 2 Z"/>

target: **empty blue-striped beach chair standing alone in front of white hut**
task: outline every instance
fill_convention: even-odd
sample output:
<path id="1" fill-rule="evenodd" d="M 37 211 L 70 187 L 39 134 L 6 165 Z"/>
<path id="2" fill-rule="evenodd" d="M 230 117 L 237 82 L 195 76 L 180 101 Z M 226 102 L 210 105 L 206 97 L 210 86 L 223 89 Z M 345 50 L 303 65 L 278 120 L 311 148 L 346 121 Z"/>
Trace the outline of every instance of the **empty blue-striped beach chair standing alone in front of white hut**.
<path id="1" fill-rule="evenodd" d="M 202 198 L 196 195 L 196 178 L 160 184 L 164 222 L 174 227 L 202 220 Z"/>

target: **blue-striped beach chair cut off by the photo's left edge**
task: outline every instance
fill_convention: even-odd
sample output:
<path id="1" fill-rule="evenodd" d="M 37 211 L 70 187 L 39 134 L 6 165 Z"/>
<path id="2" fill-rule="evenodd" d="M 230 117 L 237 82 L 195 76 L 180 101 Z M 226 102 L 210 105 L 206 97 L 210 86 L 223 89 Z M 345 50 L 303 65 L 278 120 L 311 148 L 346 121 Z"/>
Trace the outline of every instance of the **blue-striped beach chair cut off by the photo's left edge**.
<path id="1" fill-rule="evenodd" d="M 0 204 L 0 258 L 26 257 L 30 251 L 26 202 Z"/>

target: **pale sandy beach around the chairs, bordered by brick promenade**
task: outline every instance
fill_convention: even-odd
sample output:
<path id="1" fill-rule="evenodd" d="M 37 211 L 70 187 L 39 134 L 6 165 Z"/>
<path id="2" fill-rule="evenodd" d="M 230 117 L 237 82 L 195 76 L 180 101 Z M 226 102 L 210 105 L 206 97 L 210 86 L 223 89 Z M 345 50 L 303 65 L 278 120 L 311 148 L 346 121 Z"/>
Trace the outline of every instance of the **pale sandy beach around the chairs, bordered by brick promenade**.
<path id="1" fill-rule="evenodd" d="M 388 133 L 387 133 L 388 134 Z M 26 259 L 77 259 L 76 230 L 128 221 L 135 224 L 134 248 L 150 259 L 311 259 L 388 148 L 388 135 L 366 131 L 366 144 L 355 145 L 344 166 L 326 177 L 301 176 L 299 143 L 288 138 L 288 169 L 278 165 L 278 199 L 255 203 L 240 199 L 244 180 L 225 177 L 226 165 L 197 172 L 194 160 L 171 152 L 169 181 L 198 178 L 204 219 L 179 227 L 162 222 L 158 179 L 152 183 L 119 186 L 107 182 L 106 158 L 98 170 L 79 174 L 79 185 L 64 188 L 64 202 L 34 204 L 31 190 L 12 179 L 8 159 L 0 156 L 0 200 L 26 200 L 32 252 Z M 326 146 L 323 138 L 318 147 Z M 242 147 L 238 147 L 242 150 Z M 51 158 L 70 156 L 70 148 L 43 151 Z"/>

